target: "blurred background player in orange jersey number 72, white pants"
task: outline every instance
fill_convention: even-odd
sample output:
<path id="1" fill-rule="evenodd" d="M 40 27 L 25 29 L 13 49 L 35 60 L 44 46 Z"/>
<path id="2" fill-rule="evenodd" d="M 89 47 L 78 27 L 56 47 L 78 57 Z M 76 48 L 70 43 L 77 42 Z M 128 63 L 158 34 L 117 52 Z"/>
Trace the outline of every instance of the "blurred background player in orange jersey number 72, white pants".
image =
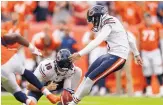
<path id="1" fill-rule="evenodd" d="M 144 14 L 144 23 L 139 27 L 139 44 L 142 59 L 144 61 L 143 74 L 146 77 L 147 87 L 146 95 L 152 95 L 151 76 L 155 74 L 160 84 L 160 95 L 163 96 L 163 62 L 159 41 L 163 38 L 161 32 L 162 25 L 160 23 L 153 24 L 151 15 Z"/>

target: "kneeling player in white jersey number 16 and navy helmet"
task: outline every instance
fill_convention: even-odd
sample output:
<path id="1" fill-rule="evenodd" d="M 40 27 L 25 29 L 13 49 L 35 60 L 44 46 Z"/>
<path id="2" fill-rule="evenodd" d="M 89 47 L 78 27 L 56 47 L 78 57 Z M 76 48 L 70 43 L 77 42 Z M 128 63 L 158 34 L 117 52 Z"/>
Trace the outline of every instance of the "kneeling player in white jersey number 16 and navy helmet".
<path id="1" fill-rule="evenodd" d="M 73 94 L 79 85 L 82 71 L 69 60 L 70 55 L 69 50 L 60 50 L 57 53 L 56 60 L 46 59 L 40 62 L 34 71 L 34 75 L 50 91 L 66 89 Z M 29 90 L 28 98 L 37 103 L 42 96 L 41 91 L 32 84 L 28 84 L 27 89 Z"/>

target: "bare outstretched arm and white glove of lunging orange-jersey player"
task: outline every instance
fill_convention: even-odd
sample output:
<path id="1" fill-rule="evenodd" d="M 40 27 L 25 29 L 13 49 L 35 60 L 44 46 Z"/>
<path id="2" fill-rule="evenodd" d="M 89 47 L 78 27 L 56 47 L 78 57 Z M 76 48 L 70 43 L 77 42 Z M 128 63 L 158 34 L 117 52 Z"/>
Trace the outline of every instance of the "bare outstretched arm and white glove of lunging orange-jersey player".
<path id="1" fill-rule="evenodd" d="M 3 36 L 3 39 L 7 45 L 19 43 L 20 45 L 28 47 L 33 54 L 42 56 L 41 52 L 39 52 L 39 50 L 34 45 L 29 43 L 28 40 L 17 33 L 7 34 Z"/>

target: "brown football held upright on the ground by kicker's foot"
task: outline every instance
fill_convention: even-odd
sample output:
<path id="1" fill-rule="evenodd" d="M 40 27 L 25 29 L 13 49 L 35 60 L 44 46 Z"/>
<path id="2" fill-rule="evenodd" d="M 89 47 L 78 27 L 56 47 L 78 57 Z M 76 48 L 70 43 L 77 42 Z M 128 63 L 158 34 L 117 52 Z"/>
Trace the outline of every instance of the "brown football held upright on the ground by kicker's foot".
<path id="1" fill-rule="evenodd" d="M 62 105 L 68 105 L 68 102 L 72 101 L 72 95 L 69 91 L 63 90 L 61 94 L 61 103 Z"/>

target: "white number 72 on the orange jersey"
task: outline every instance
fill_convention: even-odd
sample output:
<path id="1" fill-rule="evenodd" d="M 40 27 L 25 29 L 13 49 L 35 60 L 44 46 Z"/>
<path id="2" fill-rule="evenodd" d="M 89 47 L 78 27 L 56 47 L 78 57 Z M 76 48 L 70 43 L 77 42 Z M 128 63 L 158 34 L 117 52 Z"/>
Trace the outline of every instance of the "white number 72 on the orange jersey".
<path id="1" fill-rule="evenodd" d="M 143 40 L 154 41 L 155 40 L 155 31 L 153 30 L 145 30 L 143 31 Z"/>

